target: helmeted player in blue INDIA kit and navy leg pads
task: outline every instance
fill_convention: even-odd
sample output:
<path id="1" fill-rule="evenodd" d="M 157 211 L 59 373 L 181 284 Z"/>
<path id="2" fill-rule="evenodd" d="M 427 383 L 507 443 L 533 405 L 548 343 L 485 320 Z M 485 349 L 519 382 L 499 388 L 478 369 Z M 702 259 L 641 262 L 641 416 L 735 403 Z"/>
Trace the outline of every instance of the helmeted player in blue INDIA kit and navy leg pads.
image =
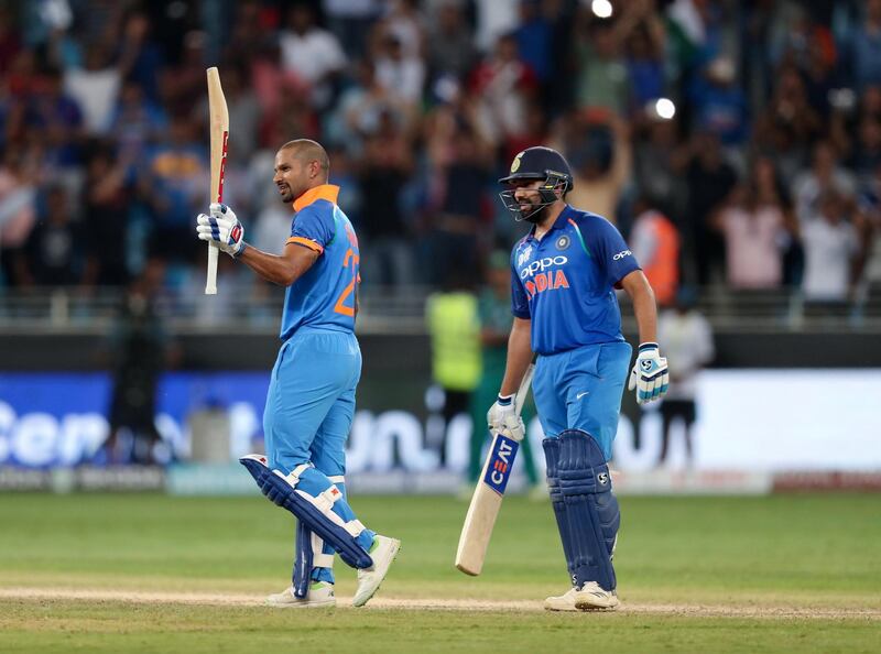
<path id="1" fill-rule="evenodd" d="M 608 460 L 618 428 L 631 347 L 621 335 L 614 290 L 633 302 L 640 336 L 629 389 L 643 404 L 667 391 L 656 342 L 654 293 L 614 226 L 566 204 L 569 164 L 555 150 L 518 154 L 500 194 L 515 220 L 532 224 L 511 253 L 514 325 L 490 430 L 522 439 L 513 396 L 537 355 L 533 395 L 545 433 L 547 484 L 572 588 L 548 597 L 551 611 L 619 606 L 612 555 L 620 514 Z"/>

